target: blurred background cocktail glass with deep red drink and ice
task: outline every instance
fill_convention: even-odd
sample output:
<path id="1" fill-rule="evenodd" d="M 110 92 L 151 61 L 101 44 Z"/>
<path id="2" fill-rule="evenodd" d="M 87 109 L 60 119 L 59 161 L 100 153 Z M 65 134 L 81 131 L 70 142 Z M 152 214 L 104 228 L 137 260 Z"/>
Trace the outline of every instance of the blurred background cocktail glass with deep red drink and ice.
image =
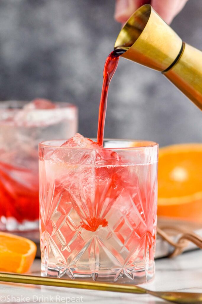
<path id="1" fill-rule="evenodd" d="M 38 228 L 38 143 L 77 131 L 68 103 L 0 102 L 0 229 Z"/>

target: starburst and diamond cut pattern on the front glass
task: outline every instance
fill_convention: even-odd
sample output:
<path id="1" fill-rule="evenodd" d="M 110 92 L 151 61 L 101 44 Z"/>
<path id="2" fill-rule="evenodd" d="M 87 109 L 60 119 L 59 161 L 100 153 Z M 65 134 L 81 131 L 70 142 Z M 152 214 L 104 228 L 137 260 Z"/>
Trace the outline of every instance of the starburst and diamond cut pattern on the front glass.
<path id="1" fill-rule="evenodd" d="M 47 244 L 47 263 L 55 263 L 58 277 L 74 279 L 83 271 L 96 280 L 104 269 L 116 282 L 123 276 L 132 280 L 140 268 L 148 275 L 156 234 L 153 175 L 147 167 L 141 185 L 135 179 L 131 189 L 119 190 L 115 199 L 111 179 L 101 186 L 94 183 L 94 190 L 86 192 L 82 180 L 79 188 L 61 190 L 54 182 L 41 190 L 41 246 L 43 251 Z"/>

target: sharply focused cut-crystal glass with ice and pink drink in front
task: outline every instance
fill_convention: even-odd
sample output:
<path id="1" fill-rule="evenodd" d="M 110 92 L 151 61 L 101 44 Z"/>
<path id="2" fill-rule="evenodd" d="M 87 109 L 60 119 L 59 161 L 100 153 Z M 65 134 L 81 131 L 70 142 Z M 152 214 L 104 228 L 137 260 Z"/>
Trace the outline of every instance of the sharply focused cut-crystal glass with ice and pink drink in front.
<path id="1" fill-rule="evenodd" d="M 158 145 L 104 140 L 102 148 L 78 134 L 63 143 L 39 144 L 41 274 L 150 280 Z"/>

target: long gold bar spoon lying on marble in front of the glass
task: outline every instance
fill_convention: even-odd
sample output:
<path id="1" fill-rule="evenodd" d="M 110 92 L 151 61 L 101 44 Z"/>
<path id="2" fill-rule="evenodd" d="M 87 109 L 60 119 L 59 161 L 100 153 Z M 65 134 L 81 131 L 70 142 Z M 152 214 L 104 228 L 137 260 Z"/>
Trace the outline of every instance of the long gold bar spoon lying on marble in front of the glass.
<path id="1" fill-rule="evenodd" d="M 40 277 L 34 275 L 17 275 L 17 274 L 2 273 L 2 272 L 0 272 L 0 282 L 149 294 L 172 303 L 202 304 L 202 293 L 151 291 L 136 285 L 74 281 L 74 280 L 64 280 L 58 278 L 46 278 L 46 277 Z"/>

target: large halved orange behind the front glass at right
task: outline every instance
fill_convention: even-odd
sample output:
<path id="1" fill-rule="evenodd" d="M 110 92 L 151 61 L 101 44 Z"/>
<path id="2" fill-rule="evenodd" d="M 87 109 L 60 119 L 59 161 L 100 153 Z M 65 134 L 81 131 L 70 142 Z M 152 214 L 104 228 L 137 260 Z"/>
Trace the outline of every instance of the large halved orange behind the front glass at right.
<path id="1" fill-rule="evenodd" d="M 202 144 L 159 149 L 157 214 L 202 223 Z"/>

